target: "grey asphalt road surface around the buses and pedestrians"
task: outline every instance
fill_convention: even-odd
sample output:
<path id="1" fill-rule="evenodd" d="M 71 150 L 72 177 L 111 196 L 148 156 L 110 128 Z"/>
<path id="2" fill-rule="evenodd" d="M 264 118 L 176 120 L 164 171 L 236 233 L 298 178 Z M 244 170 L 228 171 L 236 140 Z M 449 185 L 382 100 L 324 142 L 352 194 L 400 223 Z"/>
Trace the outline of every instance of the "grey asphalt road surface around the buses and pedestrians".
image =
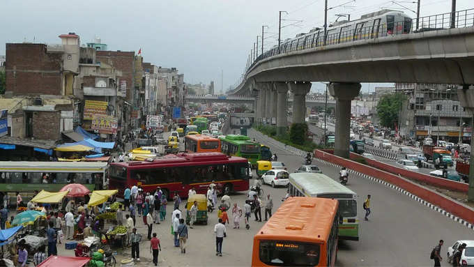
<path id="1" fill-rule="evenodd" d="M 249 130 L 249 135 L 268 144 L 290 172 L 303 164 L 303 157 L 296 157 L 277 148 L 268 137 L 262 138 L 261 135 L 256 135 L 254 130 Z M 328 165 L 318 165 L 324 174 L 338 178 L 338 169 Z M 250 184 L 253 183 L 254 179 L 250 181 Z M 367 194 L 372 194 L 372 214 L 368 222 L 363 219 L 360 221 L 360 241 L 339 243 L 337 266 L 432 266 L 433 261 L 429 259 L 429 252 L 440 238 L 445 240 L 443 255 L 446 254 L 448 245 L 455 240 L 474 239 L 472 230 L 385 185 L 351 175 L 348 187 L 360 196 L 358 204 L 360 219 L 363 218 L 362 201 Z M 263 190 L 273 197 L 275 212 L 282 203 L 280 199 L 284 197 L 286 188 L 271 188 L 263 185 Z M 245 192 L 240 192 L 231 195 L 231 202 L 236 202 L 242 207 L 245 198 Z M 182 211 L 183 206 L 184 204 L 181 204 Z M 209 214 L 207 225 L 197 225 L 194 229 L 189 229 L 186 254 L 181 254 L 178 247 L 173 246 L 173 236 L 170 234 L 171 209 L 170 202 L 165 222 L 153 225 L 153 232 L 158 234 L 162 245 L 159 266 L 250 266 L 253 236 L 264 222 L 252 220 L 250 230 L 243 227 L 232 229 L 232 224 L 226 224 L 228 237 L 224 239 L 223 257 L 216 257 L 213 227 L 217 222 L 217 212 L 214 211 Z M 243 221 L 240 225 L 243 225 Z M 146 226 L 139 217 L 137 217 L 137 229 L 144 235 L 144 241 L 140 245 L 142 261 L 136 266 L 152 266 L 150 243 L 146 239 Z M 74 254 L 72 250 L 64 250 L 63 245 L 59 245 L 58 248 L 60 255 L 72 256 Z M 123 251 L 117 250 L 117 252 L 116 258 L 119 260 L 130 257 L 130 248 Z M 445 261 L 441 265 L 450 266 Z"/>

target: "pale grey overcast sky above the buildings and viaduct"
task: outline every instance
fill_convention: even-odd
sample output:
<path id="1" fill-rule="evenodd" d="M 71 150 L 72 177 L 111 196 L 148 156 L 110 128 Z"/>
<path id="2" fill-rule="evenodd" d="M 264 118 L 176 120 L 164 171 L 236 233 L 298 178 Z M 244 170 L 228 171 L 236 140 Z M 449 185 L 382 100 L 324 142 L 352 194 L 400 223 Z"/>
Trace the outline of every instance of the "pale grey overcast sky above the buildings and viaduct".
<path id="1" fill-rule="evenodd" d="M 402 6 L 385 0 L 348 2 L 328 0 L 328 7 L 339 6 L 328 11 L 328 22 L 334 22 L 339 13 L 350 13 L 355 20 L 381 8 L 416 10 L 416 3 L 408 0 L 397 1 Z M 474 8 L 473 0 L 457 0 L 457 10 L 468 8 Z M 0 10 L 0 54 L 5 54 L 3 43 L 59 43 L 58 36 L 68 32 L 89 43 L 98 36 L 110 50 L 138 52 L 142 48 L 146 62 L 178 68 L 186 83 L 214 80 L 217 92 L 222 70 L 224 91 L 243 73 L 262 25 L 268 25 L 265 47 L 275 45 L 279 10 L 288 12 L 283 15 L 282 39 L 322 26 L 324 21 L 324 0 L 1 0 Z M 451 0 L 421 0 L 421 17 L 450 10 Z M 404 12 L 416 17 L 410 10 Z M 363 88 L 374 90 L 377 85 Z M 314 84 L 312 90 L 323 88 Z"/>

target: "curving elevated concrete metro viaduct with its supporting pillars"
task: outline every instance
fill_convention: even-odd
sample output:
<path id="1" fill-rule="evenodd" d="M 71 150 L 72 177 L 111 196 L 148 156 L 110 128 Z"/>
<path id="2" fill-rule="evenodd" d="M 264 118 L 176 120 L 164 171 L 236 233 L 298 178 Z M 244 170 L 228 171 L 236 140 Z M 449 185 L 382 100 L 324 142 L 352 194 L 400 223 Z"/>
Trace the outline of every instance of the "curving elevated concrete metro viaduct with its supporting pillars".
<path id="1" fill-rule="evenodd" d="M 395 22 L 395 27 L 406 23 Z M 288 52 L 283 46 L 270 50 L 252 62 L 231 93 L 256 97 L 257 121 L 277 114 L 277 131 L 283 132 L 288 91 L 295 101 L 293 122 L 303 123 L 311 82 L 329 81 L 336 99 L 335 154 L 349 158 L 351 100 L 358 96 L 360 82 L 460 84 L 460 95 L 473 91 L 466 89 L 474 84 L 474 9 L 421 17 L 420 24 L 425 30 L 400 34 L 391 34 L 382 24 L 376 33 L 367 29 L 372 34 L 362 38 L 355 38 L 353 29 L 341 29 L 322 37 L 328 45 L 303 43 Z M 474 109 L 474 102 L 470 105 Z"/>

